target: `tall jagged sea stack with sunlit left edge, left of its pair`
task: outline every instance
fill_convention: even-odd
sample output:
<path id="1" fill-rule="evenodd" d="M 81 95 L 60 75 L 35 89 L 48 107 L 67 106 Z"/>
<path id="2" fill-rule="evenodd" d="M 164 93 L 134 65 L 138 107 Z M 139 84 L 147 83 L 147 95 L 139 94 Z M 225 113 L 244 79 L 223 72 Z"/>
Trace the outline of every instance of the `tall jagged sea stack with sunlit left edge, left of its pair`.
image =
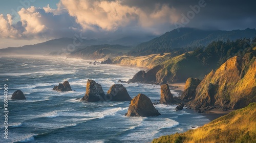
<path id="1" fill-rule="evenodd" d="M 97 102 L 104 101 L 105 93 L 100 84 L 94 80 L 88 80 L 86 86 L 86 94 L 81 99 L 82 101 Z"/>

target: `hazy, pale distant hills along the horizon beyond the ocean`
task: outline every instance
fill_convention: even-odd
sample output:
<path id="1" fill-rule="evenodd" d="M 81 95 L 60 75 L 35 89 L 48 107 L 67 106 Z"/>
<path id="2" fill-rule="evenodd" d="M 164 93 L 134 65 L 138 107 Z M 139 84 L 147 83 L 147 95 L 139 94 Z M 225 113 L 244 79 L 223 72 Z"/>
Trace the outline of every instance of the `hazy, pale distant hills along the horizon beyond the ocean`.
<path id="1" fill-rule="evenodd" d="M 53 39 L 46 42 L 25 45 L 22 47 L 8 47 L 0 49 L 0 55 L 61 55 L 74 52 L 77 47 L 85 48 L 91 45 L 99 44 L 120 44 L 120 45 L 135 45 L 147 40 L 155 38 L 155 36 L 129 36 L 119 39 L 75 39 L 74 38 L 60 38 Z M 129 47 L 129 51 L 130 51 Z M 97 51 L 97 50 L 95 50 Z M 127 52 L 127 51 L 125 51 Z"/>

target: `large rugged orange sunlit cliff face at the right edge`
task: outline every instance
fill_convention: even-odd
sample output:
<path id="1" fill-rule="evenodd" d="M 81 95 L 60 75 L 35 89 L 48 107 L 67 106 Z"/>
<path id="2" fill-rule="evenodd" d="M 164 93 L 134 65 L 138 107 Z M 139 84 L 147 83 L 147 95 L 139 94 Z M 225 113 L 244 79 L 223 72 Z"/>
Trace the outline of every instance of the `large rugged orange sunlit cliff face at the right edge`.
<path id="1" fill-rule="evenodd" d="M 232 57 L 212 70 L 196 88 L 190 106 L 239 109 L 256 101 L 256 52 Z"/>

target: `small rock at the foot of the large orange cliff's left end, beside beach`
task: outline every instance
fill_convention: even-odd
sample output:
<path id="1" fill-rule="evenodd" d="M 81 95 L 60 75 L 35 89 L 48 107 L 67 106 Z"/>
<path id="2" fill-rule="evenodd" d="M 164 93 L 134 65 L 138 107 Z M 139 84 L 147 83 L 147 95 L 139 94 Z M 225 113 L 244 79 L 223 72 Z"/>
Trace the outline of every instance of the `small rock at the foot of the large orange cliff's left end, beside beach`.
<path id="1" fill-rule="evenodd" d="M 193 100 L 196 97 L 196 88 L 201 80 L 198 78 L 188 78 L 185 84 L 183 93 L 180 96 L 181 100 Z"/>

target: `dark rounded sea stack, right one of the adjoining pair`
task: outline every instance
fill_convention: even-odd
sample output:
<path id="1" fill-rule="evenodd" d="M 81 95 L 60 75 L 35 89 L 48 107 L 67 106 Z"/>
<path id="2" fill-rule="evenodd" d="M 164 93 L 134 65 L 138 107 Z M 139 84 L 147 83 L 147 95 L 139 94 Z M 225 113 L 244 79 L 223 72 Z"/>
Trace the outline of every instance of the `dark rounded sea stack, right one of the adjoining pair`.
<path id="1" fill-rule="evenodd" d="M 106 98 L 110 101 L 131 101 L 132 98 L 129 96 L 125 87 L 122 84 L 114 84 L 110 87 L 106 93 Z"/>

